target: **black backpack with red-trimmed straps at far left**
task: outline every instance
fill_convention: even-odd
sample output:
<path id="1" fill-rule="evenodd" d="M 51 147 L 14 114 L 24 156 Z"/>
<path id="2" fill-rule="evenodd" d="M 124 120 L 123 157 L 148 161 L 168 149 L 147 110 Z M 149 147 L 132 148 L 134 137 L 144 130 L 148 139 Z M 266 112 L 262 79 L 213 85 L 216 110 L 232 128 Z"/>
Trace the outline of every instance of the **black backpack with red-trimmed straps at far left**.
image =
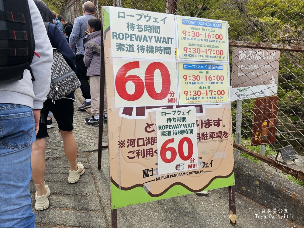
<path id="1" fill-rule="evenodd" d="M 23 78 L 30 70 L 35 41 L 27 0 L 0 0 L 0 83 Z"/>

